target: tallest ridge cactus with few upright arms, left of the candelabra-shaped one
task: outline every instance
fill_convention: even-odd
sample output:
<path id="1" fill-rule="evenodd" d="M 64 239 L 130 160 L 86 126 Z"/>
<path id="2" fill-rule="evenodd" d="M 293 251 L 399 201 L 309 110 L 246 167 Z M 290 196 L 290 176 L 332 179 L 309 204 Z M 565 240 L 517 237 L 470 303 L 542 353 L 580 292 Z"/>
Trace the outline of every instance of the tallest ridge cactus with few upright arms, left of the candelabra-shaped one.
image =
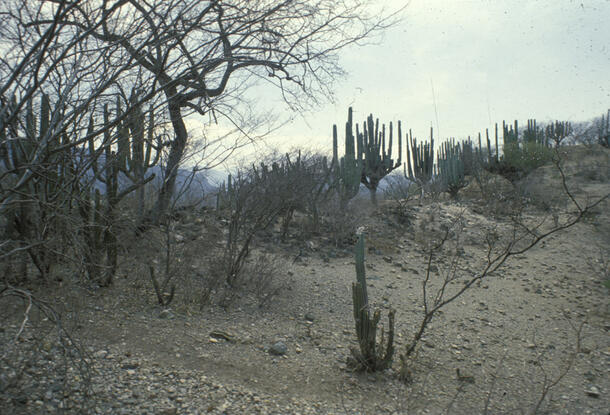
<path id="1" fill-rule="evenodd" d="M 350 107 L 345 123 L 345 155 L 339 158 L 337 126 L 333 125 L 333 159 L 331 162 L 331 186 L 339 196 L 341 210 L 345 210 L 347 203 L 358 194 L 362 176 L 364 175 L 364 162 L 360 142 L 355 147 L 353 129 L 353 114 Z M 356 156 L 357 154 L 357 156 Z"/>

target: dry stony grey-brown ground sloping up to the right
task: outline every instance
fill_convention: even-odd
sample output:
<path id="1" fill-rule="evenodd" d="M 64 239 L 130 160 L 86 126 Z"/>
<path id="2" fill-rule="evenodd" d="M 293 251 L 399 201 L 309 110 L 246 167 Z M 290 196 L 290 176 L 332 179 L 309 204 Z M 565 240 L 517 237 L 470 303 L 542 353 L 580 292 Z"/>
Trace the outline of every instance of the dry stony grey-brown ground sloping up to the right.
<path id="1" fill-rule="evenodd" d="M 570 153 L 568 186 L 581 203 L 610 190 L 608 157 L 601 148 Z M 164 237 L 155 228 L 126 232 L 110 288 L 69 275 L 33 283 L 80 353 L 58 343 L 56 325 L 36 310 L 15 343 L 28 302 L 2 304 L 5 358 L 28 363 L 13 365 L 23 368 L 15 380 L 2 361 L 0 413 L 608 414 L 608 201 L 511 256 L 442 308 L 407 362 L 408 379 L 400 379 L 399 355 L 423 318 L 427 271 L 432 280 L 443 278 L 455 264 L 459 278 L 447 287 L 455 292 L 484 269 L 490 235 L 510 241 L 515 227 L 501 195 L 511 185 L 488 179 L 493 191 L 483 195 L 472 181 L 458 201 L 415 196 L 406 208 L 393 200 L 377 208 L 352 201 L 355 225 L 366 235 L 371 302 L 382 310 L 384 326 L 387 311 L 396 310 L 389 370 L 356 373 L 346 365 L 357 347 L 353 243 L 337 247 L 324 232 L 303 237 L 297 217 L 285 242 L 273 231 L 254 243 L 253 255 L 269 255 L 275 266 L 266 286 L 275 295 L 262 307 L 260 295 L 247 289 L 201 305 L 199 281 L 222 245 L 224 224 L 213 210 L 188 211 L 172 228 L 175 258 L 184 267 L 168 308 L 157 304 L 147 272 L 162 260 L 161 253 L 151 256 L 150 246 Z M 541 233 L 575 211 L 552 166 L 520 186 L 528 197 L 521 220 L 542 223 Z M 430 241 L 456 221 L 459 240 L 448 240 L 428 267 Z"/>

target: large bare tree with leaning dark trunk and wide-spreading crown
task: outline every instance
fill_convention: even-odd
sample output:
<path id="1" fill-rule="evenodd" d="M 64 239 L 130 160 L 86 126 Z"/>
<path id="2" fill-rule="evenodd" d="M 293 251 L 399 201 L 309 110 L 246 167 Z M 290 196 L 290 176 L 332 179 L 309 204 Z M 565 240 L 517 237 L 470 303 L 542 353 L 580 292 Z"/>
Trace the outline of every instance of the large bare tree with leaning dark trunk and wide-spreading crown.
<path id="1" fill-rule="evenodd" d="M 165 99 L 174 136 L 157 214 L 168 207 L 193 111 L 239 117 L 245 88 L 265 80 L 291 108 L 329 96 L 337 52 L 391 23 L 359 0 L 82 1 L 57 20 L 118 46 L 147 93 Z M 243 108 L 243 107 L 241 107 Z"/>

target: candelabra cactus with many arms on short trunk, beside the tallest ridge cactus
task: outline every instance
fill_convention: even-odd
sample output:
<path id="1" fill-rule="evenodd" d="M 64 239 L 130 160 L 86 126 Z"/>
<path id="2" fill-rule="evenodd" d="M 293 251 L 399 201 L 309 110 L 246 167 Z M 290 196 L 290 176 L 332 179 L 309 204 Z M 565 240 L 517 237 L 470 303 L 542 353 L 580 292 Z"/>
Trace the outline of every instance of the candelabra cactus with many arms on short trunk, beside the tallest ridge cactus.
<path id="1" fill-rule="evenodd" d="M 364 161 L 362 172 L 362 183 L 371 193 L 371 201 L 377 204 L 377 187 L 385 176 L 390 174 L 402 164 L 402 131 L 400 121 L 398 122 L 398 158 L 392 159 L 393 126 L 390 122 L 389 134 L 386 146 L 385 124 L 379 129 L 379 119 L 373 121 L 373 115 L 369 115 L 366 123 L 363 123 L 363 131 L 358 131 L 356 125 L 356 139 L 358 140 L 359 158 Z"/>

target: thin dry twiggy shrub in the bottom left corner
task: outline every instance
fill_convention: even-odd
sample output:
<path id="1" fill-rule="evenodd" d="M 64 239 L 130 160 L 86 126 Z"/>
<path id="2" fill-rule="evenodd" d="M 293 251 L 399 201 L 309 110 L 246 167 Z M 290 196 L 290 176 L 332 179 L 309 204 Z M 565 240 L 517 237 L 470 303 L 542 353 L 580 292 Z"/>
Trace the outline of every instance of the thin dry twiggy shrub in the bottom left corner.
<path id="1" fill-rule="evenodd" d="M 47 401 L 45 413 L 68 405 L 91 410 L 89 363 L 60 314 L 12 287 L 0 290 L 0 310 L 0 412 L 29 413 L 26 404 L 36 400 Z"/>

